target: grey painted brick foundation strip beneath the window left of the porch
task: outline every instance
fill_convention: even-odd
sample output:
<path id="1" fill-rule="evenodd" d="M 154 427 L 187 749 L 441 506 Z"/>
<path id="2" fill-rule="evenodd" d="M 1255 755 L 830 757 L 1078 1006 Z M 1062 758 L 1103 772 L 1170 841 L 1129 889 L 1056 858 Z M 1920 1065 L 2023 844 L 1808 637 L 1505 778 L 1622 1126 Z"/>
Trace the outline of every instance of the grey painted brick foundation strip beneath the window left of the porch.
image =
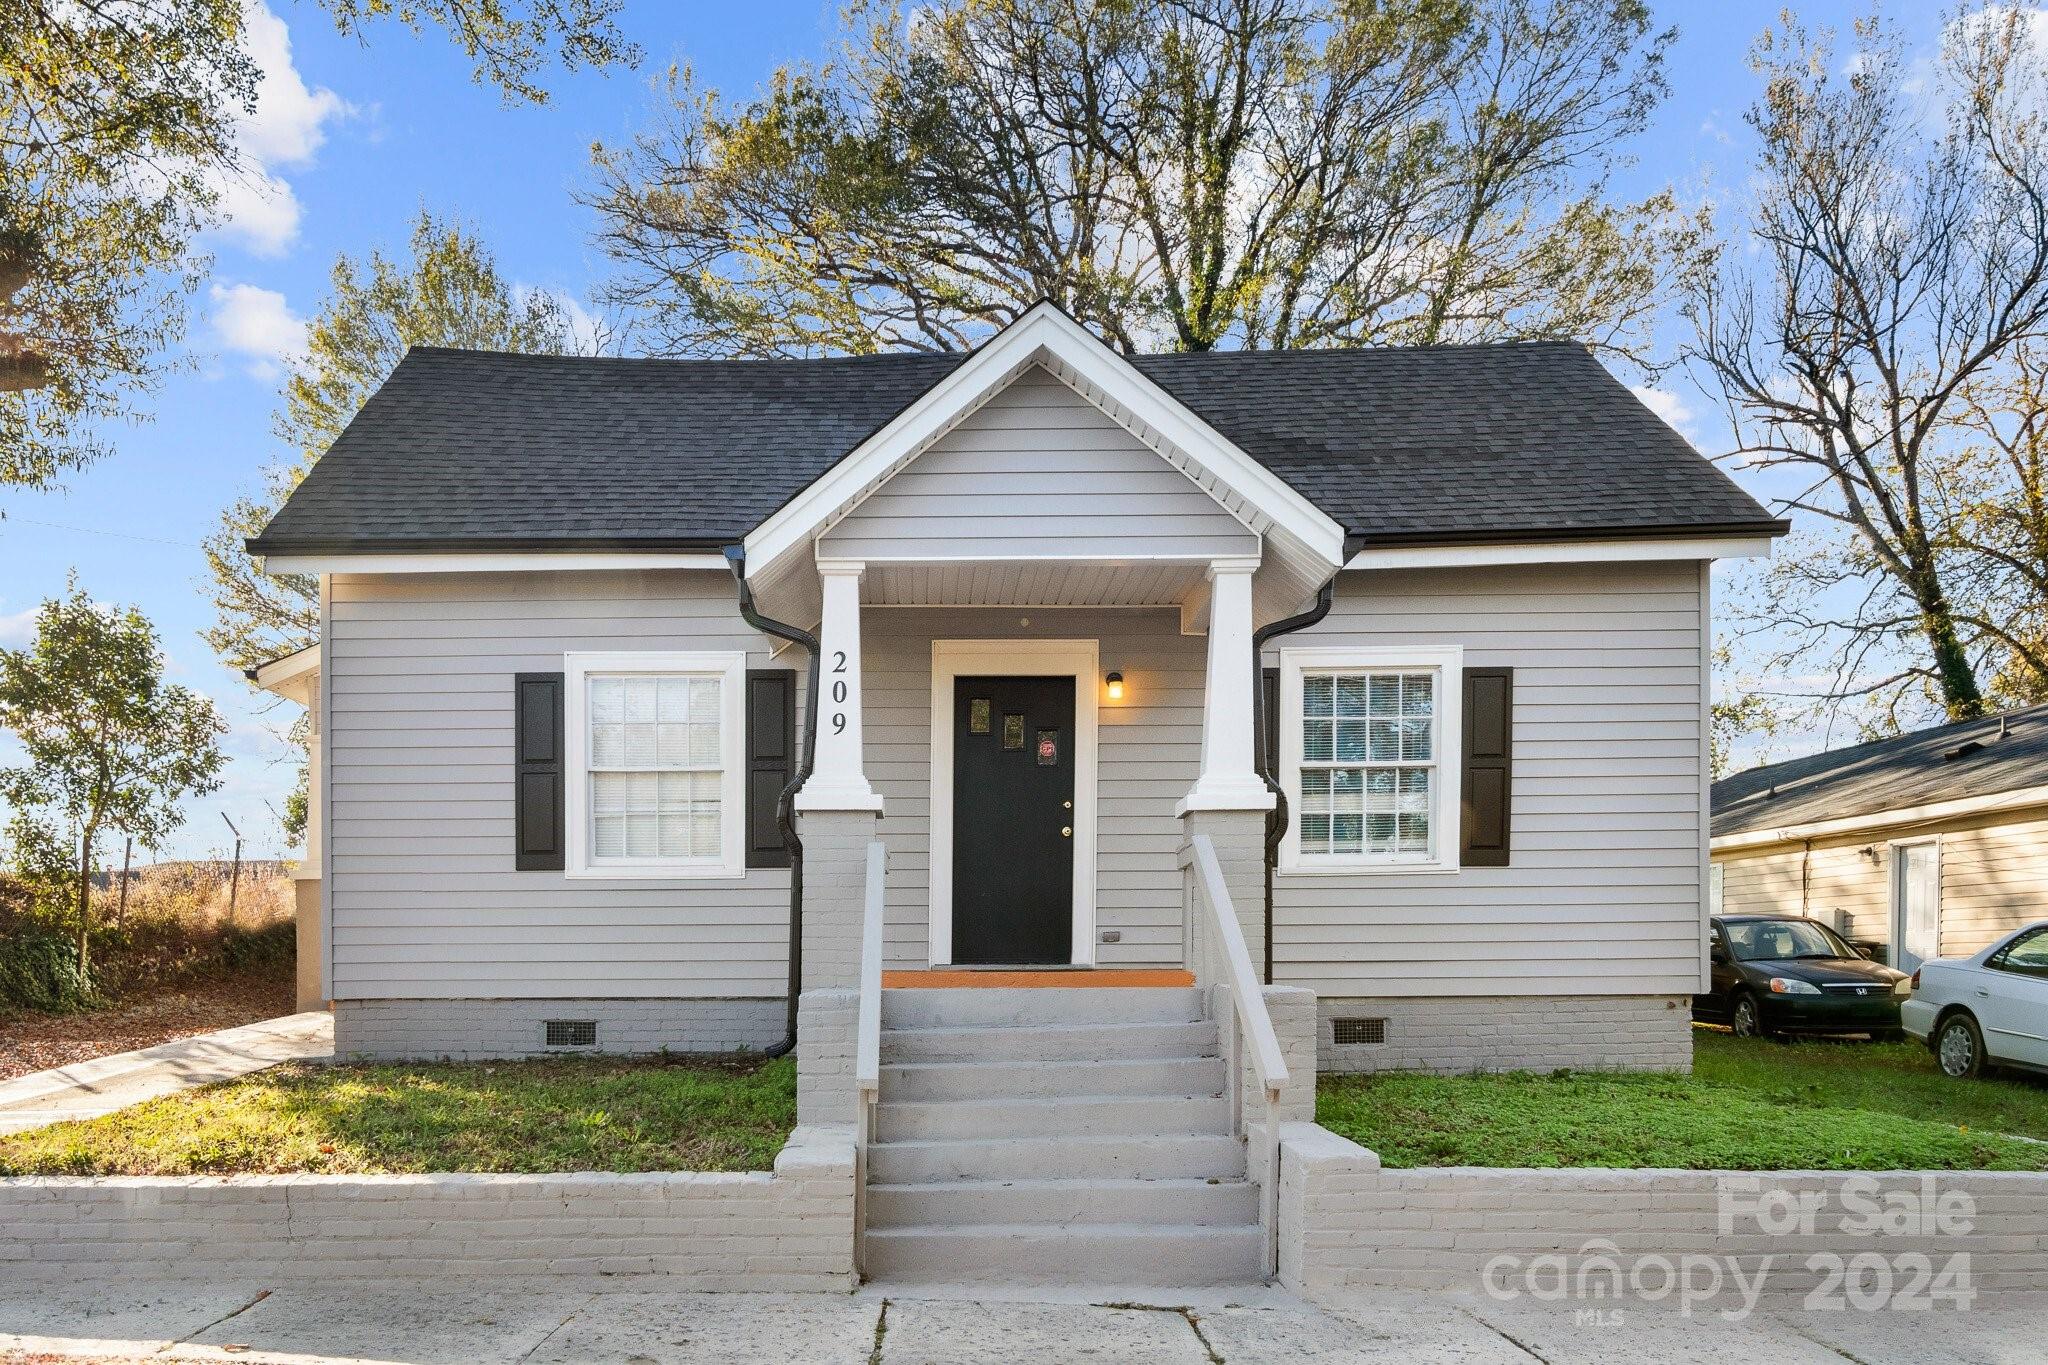
<path id="1" fill-rule="evenodd" d="M 594 1021 L 596 1048 L 549 1048 L 549 1019 Z M 782 1042 L 774 999 L 336 1001 L 342 1062 L 494 1060 L 559 1052 L 737 1052 Z"/>

